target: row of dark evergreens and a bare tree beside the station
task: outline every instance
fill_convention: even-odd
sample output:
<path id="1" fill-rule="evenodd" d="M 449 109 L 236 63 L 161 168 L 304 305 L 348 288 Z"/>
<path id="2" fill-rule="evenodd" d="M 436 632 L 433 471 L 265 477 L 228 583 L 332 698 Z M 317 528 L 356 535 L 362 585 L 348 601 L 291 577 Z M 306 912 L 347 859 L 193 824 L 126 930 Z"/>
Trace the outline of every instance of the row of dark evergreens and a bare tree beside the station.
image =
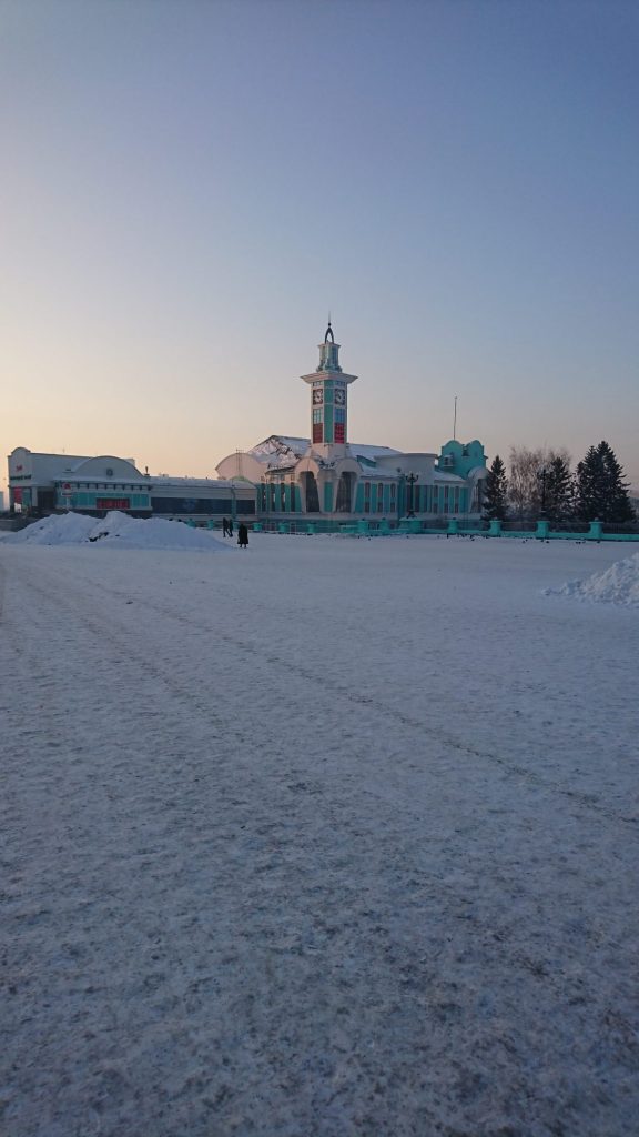
<path id="1" fill-rule="evenodd" d="M 483 483 L 482 515 L 505 521 L 637 521 L 623 468 L 607 442 L 591 446 L 571 470 L 566 450 L 512 447 L 509 466 L 497 455 Z"/>

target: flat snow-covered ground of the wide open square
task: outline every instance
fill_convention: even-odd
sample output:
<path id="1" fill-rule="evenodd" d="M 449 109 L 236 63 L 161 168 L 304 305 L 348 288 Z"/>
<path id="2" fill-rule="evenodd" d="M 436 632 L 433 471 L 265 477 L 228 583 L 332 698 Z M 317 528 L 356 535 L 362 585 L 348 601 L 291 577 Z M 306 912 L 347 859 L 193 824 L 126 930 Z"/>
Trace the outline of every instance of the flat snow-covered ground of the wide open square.
<path id="1" fill-rule="evenodd" d="M 0 540 L 3 1131 L 634 1132 L 626 547 L 227 545 Z"/>

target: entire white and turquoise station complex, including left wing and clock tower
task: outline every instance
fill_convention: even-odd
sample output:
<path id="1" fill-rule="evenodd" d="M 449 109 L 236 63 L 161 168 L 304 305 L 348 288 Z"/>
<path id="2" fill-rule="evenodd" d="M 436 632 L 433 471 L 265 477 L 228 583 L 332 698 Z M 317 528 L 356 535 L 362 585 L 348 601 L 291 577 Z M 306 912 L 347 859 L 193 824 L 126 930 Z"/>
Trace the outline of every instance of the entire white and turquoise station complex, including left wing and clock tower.
<path id="1" fill-rule="evenodd" d="M 391 528 L 404 517 L 479 520 L 488 473 L 482 443 L 451 439 L 439 453 L 405 453 L 350 442 L 349 398 L 357 375 L 342 370 L 330 323 L 318 349 L 316 370 L 301 376 L 309 399 L 307 438 L 269 434 L 223 458 L 211 479 L 150 475 L 133 458 L 113 455 L 17 447 L 9 455 L 9 508 L 94 516 L 119 509 L 196 524 L 214 524 L 224 515 L 267 526 L 308 518 L 327 529 L 362 520 Z"/>

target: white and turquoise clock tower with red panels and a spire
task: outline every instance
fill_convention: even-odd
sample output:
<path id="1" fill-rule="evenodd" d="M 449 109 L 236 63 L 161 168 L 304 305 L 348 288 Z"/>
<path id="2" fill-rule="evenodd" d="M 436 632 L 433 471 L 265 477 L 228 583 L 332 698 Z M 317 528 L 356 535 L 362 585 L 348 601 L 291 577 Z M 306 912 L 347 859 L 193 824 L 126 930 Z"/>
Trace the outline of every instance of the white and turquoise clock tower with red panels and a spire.
<path id="1" fill-rule="evenodd" d="M 331 321 L 320 347 L 320 366 L 302 375 L 310 387 L 310 446 L 322 457 L 343 457 L 348 446 L 348 388 L 357 375 L 346 375 L 340 367 L 340 345 Z"/>

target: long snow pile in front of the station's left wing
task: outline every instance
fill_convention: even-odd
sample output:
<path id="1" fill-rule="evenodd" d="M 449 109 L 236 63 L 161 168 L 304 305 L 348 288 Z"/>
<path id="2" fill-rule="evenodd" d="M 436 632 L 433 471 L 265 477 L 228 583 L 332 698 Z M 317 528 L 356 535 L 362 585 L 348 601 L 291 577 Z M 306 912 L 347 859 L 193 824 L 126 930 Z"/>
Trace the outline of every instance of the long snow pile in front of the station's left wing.
<path id="1" fill-rule="evenodd" d="M 219 553 L 227 546 L 206 530 L 161 517 L 131 517 L 114 511 L 96 521 L 80 513 L 57 514 L 11 533 L 8 541 L 20 545 L 114 546 L 126 549 L 206 549 Z"/>

